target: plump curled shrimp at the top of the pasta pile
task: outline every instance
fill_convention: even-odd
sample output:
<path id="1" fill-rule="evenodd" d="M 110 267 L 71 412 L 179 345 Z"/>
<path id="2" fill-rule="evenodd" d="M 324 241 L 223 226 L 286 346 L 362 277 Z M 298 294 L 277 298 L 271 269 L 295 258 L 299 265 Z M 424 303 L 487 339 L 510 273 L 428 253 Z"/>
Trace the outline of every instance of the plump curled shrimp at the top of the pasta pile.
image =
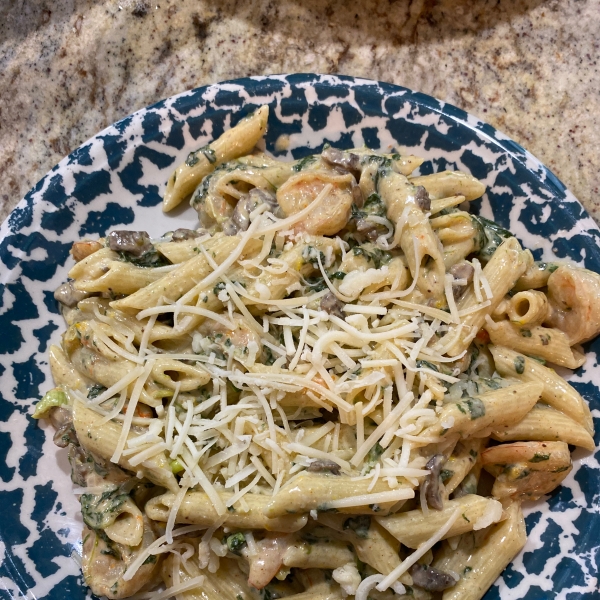
<path id="1" fill-rule="evenodd" d="M 354 177 L 350 173 L 307 171 L 293 175 L 277 190 L 279 205 L 286 215 L 293 215 L 306 208 L 328 185 L 331 189 L 325 198 L 296 229 L 313 235 L 334 235 L 342 229 L 350 218 Z"/>

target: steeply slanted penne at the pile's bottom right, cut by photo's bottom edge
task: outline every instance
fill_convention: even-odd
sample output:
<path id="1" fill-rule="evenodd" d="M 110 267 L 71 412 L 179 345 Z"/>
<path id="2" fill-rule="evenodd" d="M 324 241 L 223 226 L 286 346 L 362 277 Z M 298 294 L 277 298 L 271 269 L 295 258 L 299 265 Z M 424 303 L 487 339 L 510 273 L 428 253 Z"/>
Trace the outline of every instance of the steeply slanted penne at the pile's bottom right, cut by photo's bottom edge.
<path id="1" fill-rule="evenodd" d="M 480 600 L 527 541 L 521 505 L 506 509 L 506 519 L 495 525 L 483 544 L 473 550 L 457 570 L 460 580 L 444 592 L 443 600 Z M 435 568 L 448 568 L 434 563 Z M 451 568 L 451 567 L 449 567 Z"/>

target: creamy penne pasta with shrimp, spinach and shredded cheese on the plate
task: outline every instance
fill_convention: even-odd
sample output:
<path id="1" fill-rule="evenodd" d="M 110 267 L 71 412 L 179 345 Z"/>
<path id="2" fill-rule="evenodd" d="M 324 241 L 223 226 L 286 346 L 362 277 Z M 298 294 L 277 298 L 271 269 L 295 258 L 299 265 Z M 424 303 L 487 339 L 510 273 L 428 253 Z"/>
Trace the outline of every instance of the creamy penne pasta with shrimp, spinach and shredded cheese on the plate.
<path id="1" fill-rule="evenodd" d="M 168 211 L 111 231 L 56 291 L 56 387 L 87 585 L 108 598 L 476 600 L 521 503 L 594 449 L 600 276 L 536 262 L 423 159 L 255 149 L 268 107 L 191 152 Z M 552 365 L 552 366 L 550 366 Z"/>

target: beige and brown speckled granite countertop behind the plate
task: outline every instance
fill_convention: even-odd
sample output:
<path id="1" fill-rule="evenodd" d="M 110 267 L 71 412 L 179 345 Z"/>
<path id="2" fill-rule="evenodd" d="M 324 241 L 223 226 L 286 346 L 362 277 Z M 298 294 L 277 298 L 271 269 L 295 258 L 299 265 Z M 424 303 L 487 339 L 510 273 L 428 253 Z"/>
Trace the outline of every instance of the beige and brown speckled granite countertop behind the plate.
<path id="1" fill-rule="evenodd" d="M 0 221 L 110 123 L 235 77 L 343 73 L 451 102 L 525 146 L 600 222 L 600 0 L 7 0 Z"/>

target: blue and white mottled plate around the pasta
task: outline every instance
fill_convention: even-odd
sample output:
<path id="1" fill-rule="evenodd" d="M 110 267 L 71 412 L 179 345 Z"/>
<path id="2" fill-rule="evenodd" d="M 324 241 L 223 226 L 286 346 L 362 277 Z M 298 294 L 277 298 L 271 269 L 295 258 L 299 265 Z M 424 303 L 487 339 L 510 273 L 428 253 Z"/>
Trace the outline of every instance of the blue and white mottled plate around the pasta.
<path id="1" fill-rule="evenodd" d="M 151 236 L 196 223 L 163 215 L 171 170 L 256 107 L 269 104 L 266 150 L 291 159 L 325 142 L 392 146 L 427 159 L 420 172 L 461 169 L 487 186 L 475 211 L 515 232 L 537 259 L 600 272 L 600 231 L 565 186 L 518 144 L 423 94 L 351 77 L 239 79 L 174 96 L 115 123 L 48 173 L 0 229 L 0 597 L 84 598 L 81 528 L 66 452 L 29 417 L 49 388 L 46 353 L 64 328 L 53 300 L 81 237 L 110 229 Z M 600 340 L 571 383 L 600 432 Z M 598 443 L 598 434 L 596 443 Z M 529 540 L 486 600 L 600 599 L 600 452 L 549 497 L 527 507 Z"/>

